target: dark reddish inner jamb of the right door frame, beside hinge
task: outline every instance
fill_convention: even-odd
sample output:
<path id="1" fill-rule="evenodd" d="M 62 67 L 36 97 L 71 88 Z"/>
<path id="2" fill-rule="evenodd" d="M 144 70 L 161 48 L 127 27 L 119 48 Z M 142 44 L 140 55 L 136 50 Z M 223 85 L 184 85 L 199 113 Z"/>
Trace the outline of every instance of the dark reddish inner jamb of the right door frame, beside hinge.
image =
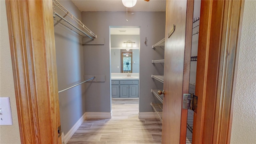
<path id="1" fill-rule="evenodd" d="M 194 113 L 192 143 L 201 144 L 203 137 L 206 80 L 208 70 L 208 53 L 210 48 L 210 29 L 212 20 L 212 1 L 201 1 L 198 60 L 196 68 L 196 90 L 198 96 L 197 112 Z"/>

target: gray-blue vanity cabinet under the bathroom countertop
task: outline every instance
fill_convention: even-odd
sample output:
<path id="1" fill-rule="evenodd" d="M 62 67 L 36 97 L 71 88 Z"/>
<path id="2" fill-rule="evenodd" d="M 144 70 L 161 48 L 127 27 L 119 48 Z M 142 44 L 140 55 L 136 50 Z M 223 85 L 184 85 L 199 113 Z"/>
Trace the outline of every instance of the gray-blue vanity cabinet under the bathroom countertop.
<path id="1" fill-rule="evenodd" d="M 138 80 L 111 80 L 111 84 L 112 98 L 138 98 L 139 96 Z"/>

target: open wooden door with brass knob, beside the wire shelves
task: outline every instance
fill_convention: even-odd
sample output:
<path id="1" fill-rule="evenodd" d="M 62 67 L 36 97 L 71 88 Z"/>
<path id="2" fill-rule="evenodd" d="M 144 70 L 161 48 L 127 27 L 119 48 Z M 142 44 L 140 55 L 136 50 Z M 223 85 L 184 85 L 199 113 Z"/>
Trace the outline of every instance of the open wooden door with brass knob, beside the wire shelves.
<path id="1" fill-rule="evenodd" d="M 182 94 L 188 93 L 189 86 L 193 6 L 192 0 L 166 1 L 163 144 L 186 142 L 187 110 L 182 109 Z"/>

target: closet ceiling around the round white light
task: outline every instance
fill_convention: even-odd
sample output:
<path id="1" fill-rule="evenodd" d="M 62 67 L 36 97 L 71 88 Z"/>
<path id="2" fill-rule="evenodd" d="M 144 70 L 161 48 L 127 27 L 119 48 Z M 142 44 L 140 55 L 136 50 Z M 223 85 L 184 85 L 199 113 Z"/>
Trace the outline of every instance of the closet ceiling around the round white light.
<path id="1" fill-rule="evenodd" d="M 110 11 L 126 12 L 122 0 L 72 0 L 80 11 Z M 134 7 L 128 8 L 128 12 L 165 12 L 166 0 L 137 0 Z"/>

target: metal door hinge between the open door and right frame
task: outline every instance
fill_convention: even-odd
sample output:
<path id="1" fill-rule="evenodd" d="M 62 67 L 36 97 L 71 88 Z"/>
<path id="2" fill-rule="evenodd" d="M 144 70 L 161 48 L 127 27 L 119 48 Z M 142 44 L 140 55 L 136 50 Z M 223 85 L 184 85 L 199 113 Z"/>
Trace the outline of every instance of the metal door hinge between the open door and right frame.
<path id="1" fill-rule="evenodd" d="M 196 112 L 197 110 L 197 96 L 194 94 L 183 94 L 183 109 L 190 109 Z"/>

